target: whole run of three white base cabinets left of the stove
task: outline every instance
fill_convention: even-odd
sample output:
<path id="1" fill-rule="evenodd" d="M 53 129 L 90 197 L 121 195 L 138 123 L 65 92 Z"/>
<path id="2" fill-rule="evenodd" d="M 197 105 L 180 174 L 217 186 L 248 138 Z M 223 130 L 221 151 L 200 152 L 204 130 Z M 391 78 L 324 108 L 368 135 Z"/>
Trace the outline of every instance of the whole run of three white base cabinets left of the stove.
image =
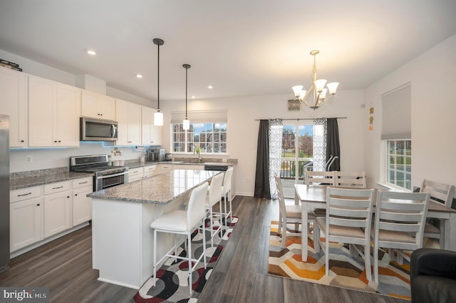
<path id="1" fill-rule="evenodd" d="M 92 218 L 92 177 L 10 192 L 10 251 L 16 252 Z M 58 237 L 58 236 L 57 236 Z"/>

